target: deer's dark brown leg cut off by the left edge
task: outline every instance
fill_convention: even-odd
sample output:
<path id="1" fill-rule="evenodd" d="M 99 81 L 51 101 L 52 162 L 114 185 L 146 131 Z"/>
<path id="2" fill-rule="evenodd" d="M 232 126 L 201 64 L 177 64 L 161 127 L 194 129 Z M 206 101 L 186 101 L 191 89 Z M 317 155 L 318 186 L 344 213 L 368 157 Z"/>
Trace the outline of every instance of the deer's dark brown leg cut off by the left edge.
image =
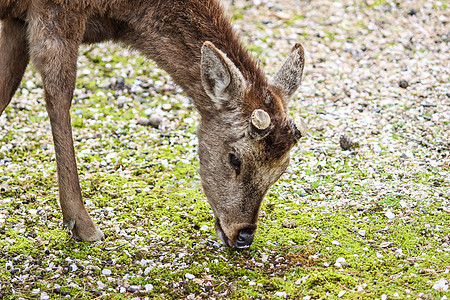
<path id="1" fill-rule="evenodd" d="M 0 22 L 0 115 L 19 87 L 30 60 L 26 25 L 15 19 Z"/>

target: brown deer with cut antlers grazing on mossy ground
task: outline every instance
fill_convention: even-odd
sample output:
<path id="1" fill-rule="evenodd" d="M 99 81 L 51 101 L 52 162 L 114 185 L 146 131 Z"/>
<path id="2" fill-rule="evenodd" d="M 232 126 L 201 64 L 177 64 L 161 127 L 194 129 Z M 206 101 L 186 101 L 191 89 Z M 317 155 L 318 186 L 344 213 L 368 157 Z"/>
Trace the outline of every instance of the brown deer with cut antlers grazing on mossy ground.
<path id="1" fill-rule="evenodd" d="M 72 137 L 79 47 L 113 41 L 154 61 L 192 99 L 216 235 L 227 247 L 252 244 L 263 198 L 306 132 L 287 111 L 303 74 L 300 43 L 268 79 L 218 0 L 2 0 L 0 22 L 0 115 L 31 61 L 44 87 L 62 224 L 73 237 L 105 237 L 83 203 Z"/>

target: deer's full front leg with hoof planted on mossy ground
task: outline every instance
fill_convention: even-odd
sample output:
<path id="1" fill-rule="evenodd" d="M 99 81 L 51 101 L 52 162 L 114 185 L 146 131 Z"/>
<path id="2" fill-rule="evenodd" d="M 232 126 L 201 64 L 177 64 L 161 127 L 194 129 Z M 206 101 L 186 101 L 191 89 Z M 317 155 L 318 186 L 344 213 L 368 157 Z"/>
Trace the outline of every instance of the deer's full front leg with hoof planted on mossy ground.
<path id="1" fill-rule="evenodd" d="M 69 114 L 83 24 L 66 14 L 48 17 L 32 19 L 37 24 L 30 22 L 29 36 L 31 59 L 42 75 L 52 127 L 63 224 L 78 239 L 98 241 L 103 233 L 95 227 L 81 197 Z"/>

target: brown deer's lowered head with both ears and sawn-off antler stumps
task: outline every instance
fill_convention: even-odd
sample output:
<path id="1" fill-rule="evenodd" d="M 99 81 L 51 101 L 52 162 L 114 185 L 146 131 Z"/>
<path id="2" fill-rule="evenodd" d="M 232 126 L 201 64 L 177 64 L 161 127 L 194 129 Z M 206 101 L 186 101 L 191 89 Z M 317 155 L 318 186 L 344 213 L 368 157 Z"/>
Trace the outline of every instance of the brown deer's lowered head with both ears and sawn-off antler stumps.
<path id="1" fill-rule="evenodd" d="M 305 135 L 302 120 L 286 114 L 303 65 L 297 44 L 270 81 L 255 84 L 212 43 L 202 47 L 202 84 L 210 105 L 198 129 L 200 176 L 217 236 L 229 247 L 253 242 L 264 195 Z"/>

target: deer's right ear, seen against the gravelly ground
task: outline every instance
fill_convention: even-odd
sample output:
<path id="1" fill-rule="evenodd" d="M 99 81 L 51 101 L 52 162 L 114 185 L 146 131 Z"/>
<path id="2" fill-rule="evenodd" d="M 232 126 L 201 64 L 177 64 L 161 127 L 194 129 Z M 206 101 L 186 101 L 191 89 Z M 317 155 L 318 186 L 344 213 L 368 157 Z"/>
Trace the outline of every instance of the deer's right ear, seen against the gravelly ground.
<path id="1" fill-rule="evenodd" d="M 269 83 L 278 88 L 286 100 L 291 99 L 302 81 L 304 65 L 305 51 L 303 46 L 297 43 Z"/>

